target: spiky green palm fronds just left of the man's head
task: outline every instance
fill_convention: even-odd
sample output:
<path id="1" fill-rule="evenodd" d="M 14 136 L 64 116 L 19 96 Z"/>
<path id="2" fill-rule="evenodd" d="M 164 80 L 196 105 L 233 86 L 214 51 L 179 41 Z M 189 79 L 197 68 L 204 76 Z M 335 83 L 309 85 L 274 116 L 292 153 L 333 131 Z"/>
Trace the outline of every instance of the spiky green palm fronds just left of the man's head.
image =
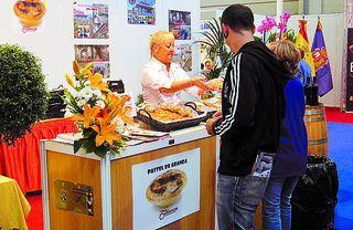
<path id="1" fill-rule="evenodd" d="M 208 79 L 218 77 L 224 70 L 228 66 L 234 53 L 232 53 L 226 44 L 222 32 L 221 19 L 213 19 L 205 23 L 210 29 L 207 31 L 201 32 L 205 40 L 196 41 L 195 43 L 201 43 L 206 46 L 207 58 L 213 62 L 213 70 L 207 74 Z"/>

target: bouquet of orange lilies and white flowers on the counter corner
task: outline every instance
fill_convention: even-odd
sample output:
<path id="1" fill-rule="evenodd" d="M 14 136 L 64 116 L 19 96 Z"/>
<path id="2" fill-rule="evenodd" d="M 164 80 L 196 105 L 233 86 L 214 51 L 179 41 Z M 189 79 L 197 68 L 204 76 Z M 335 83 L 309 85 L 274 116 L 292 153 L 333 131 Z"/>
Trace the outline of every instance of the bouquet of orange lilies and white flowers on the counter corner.
<path id="1" fill-rule="evenodd" d="M 81 67 L 73 62 L 74 76 L 66 74 L 66 81 L 73 93 L 65 88 L 65 102 L 73 119 L 82 130 L 82 138 L 74 142 L 74 151 L 79 148 L 86 154 L 94 153 L 105 157 L 107 153 L 120 154 L 120 148 L 126 145 L 121 135 L 125 124 L 132 123 L 127 116 L 129 108 L 126 103 L 128 95 L 111 93 L 103 81 L 103 75 L 90 71 L 93 63 Z"/>

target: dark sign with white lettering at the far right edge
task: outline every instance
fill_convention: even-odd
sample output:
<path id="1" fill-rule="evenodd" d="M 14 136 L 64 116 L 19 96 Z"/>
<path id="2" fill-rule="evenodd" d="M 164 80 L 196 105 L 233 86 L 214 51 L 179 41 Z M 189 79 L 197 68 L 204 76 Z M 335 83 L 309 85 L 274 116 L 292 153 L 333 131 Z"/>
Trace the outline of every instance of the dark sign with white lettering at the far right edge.
<path id="1" fill-rule="evenodd" d="M 353 28 L 347 29 L 346 52 L 346 111 L 353 111 Z"/>

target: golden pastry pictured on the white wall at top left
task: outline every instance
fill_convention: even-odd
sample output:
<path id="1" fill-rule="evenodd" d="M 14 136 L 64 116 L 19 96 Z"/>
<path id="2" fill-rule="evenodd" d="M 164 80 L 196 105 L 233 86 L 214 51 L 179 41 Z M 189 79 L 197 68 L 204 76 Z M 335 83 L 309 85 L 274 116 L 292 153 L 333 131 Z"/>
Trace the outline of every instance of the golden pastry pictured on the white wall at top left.
<path id="1" fill-rule="evenodd" d="M 45 6 L 40 0 L 18 0 L 13 11 L 24 25 L 35 27 L 45 14 Z"/>

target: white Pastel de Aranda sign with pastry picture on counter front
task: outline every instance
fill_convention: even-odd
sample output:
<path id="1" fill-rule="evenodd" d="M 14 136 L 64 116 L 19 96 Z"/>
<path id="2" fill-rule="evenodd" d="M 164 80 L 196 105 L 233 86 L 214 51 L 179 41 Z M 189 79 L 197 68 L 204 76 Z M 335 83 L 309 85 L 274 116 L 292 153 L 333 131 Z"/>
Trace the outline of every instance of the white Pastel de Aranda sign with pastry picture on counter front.
<path id="1" fill-rule="evenodd" d="M 200 210 L 200 148 L 132 166 L 133 230 Z"/>

